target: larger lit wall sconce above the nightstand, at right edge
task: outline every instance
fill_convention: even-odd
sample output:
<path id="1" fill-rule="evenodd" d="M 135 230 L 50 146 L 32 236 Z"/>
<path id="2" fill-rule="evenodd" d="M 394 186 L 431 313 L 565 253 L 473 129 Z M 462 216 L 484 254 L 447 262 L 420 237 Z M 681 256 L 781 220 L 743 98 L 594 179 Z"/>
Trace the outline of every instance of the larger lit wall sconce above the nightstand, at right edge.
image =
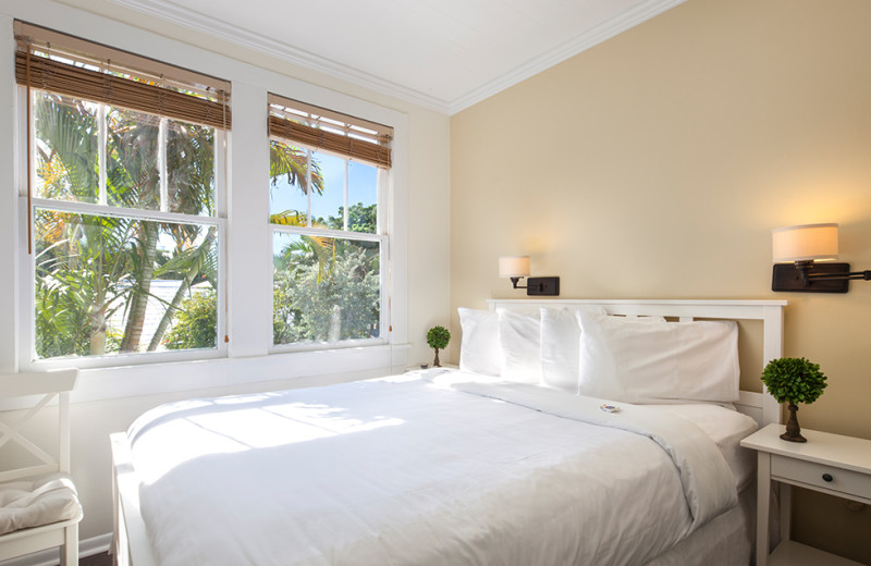
<path id="1" fill-rule="evenodd" d="M 871 271 L 850 271 L 849 263 L 826 262 L 837 259 L 837 224 L 773 230 L 772 251 L 772 291 L 846 293 L 850 280 L 871 280 Z"/>

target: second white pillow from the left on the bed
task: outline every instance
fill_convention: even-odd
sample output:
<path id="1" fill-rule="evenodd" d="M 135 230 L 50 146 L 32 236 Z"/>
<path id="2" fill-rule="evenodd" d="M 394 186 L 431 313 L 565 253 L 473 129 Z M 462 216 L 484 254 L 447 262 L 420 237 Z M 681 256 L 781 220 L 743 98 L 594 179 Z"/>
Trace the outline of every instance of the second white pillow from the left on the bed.
<path id="1" fill-rule="evenodd" d="M 539 313 L 520 315 L 498 308 L 502 378 L 520 383 L 541 381 L 541 321 Z"/>

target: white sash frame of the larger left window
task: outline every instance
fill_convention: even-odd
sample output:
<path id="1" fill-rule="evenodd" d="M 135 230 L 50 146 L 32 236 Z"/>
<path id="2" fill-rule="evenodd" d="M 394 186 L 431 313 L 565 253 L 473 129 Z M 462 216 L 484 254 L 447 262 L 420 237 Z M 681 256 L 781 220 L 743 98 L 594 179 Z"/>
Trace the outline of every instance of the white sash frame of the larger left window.
<path id="1" fill-rule="evenodd" d="M 30 97 L 28 98 L 27 88 L 23 85 L 16 85 L 16 100 L 17 111 L 15 118 L 17 121 L 17 135 L 16 149 L 19 175 L 19 225 L 20 230 L 16 234 L 19 260 L 19 300 L 16 319 L 19 322 L 20 336 L 17 341 L 17 356 L 19 365 L 25 371 L 45 371 L 56 368 L 69 368 L 71 366 L 89 369 L 89 368 L 109 368 L 119 366 L 134 366 L 134 365 L 152 365 L 164 364 L 172 361 L 191 361 L 204 360 L 214 358 L 225 358 L 228 356 L 228 343 L 225 336 L 228 334 L 228 138 L 229 133 L 219 127 L 214 127 L 214 214 L 213 217 L 199 216 L 199 214 L 185 214 L 179 212 L 169 212 L 162 210 L 148 210 L 148 209 L 132 209 L 122 208 L 112 205 L 100 205 L 90 202 L 77 202 L 68 200 L 54 200 L 37 197 L 36 195 L 29 198 L 28 208 L 28 181 L 33 180 L 35 185 L 36 180 L 36 160 L 30 160 L 28 163 L 28 144 L 27 138 L 32 136 L 36 139 L 35 132 L 35 114 L 33 112 L 34 96 L 40 89 L 32 88 Z M 70 97 L 77 98 L 77 97 Z M 103 102 L 94 102 L 107 108 L 108 104 Z M 27 108 L 30 112 L 27 112 Z M 28 123 L 27 116 L 30 116 Z M 152 114 L 158 115 L 158 114 Z M 161 116 L 162 118 L 162 116 Z M 161 128 L 163 130 L 163 128 Z M 102 136 L 101 136 L 102 137 Z M 160 143 L 161 146 L 165 144 Z M 30 151 L 35 149 L 29 148 Z M 158 167 L 160 172 L 163 173 L 165 168 L 165 159 L 158 159 Z M 100 176 L 103 171 L 100 172 Z M 163 175 L 161 175 L 163 177 Z M 161 182 L 161 185 L 163 183 Z M 34 186 L 35 190 L 35 186 Z M 125 218 L 132 220 L 152 220 L 165 221 L 173 223 L 184 224 L 198 224 L 201 226 L 217 226 L 218 236 L 216 238 L 217 254 L 218 254 L 218 281 L 219 285 L 216 290 L 217 297 L 217 328 L 216 328 L 216 347 L 214 348 L 196 348 L 196 349 L 182 349 L 182 350 L 164 350 L 164 352 L 145 352 L 145 353 L 118 353 L 107 354 L 102 356 L 59 356 L 54 358 L 39 359 L 36 356 L 36 318 L 35 318 L 35 281 L 36 281 L 36 263 L 35 257 L 29 249 L 35 249 L 35 232 L 30 231 L 28 238 L 27 226 L 36 217 L 37 208 L 48 208 L 61 212 L 71 213 L 85 213 L 88 216 L 102 216 Z M 163 202 L 161 202 L 163 208 Z"/>

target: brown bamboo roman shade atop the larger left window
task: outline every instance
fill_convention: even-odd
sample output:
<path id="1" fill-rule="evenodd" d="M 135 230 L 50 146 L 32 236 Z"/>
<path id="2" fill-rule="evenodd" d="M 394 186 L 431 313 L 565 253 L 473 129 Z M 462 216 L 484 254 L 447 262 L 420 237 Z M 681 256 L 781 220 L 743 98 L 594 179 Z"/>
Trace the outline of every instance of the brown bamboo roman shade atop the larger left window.
<path id="1" fill-rule="evenodd" d="M 20 85 L 229 130 L 230 84 L 151 59 L 15 22 Z"/>

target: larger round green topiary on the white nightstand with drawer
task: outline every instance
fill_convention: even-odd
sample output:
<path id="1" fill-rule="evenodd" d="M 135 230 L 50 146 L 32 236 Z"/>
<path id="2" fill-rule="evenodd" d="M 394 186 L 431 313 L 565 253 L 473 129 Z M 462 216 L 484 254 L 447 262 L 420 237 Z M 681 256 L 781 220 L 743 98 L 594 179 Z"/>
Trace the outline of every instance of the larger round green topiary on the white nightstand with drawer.
<path id="1" fill-rule="evenodd" d="M 808 405 L 823 394 L 826 383 L 820 365 L 805 358 L 773 359 L 762 370 L 762 383 L 777 403 L 789 403 L 786 406 L 789 409 L 789 420 L 786 421 L 786 432 L 781 438 L 790 442 L 807 442 L 808 439 L 801 435 L 798 426 L 796 403 Z"/>

